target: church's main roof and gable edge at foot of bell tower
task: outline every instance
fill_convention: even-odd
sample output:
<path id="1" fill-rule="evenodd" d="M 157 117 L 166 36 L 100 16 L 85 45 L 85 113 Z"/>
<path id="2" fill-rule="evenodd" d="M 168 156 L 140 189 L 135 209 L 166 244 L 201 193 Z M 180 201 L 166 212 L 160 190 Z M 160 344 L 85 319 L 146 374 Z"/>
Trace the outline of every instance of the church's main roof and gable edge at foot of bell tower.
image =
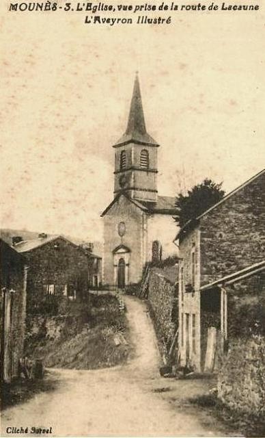
<path id="1" fill-rule="evenodd" d="M 170 214 L 174 215 L 177 213 L 176 210 L 176 198 L 174 196 L 158 196 L 157 201 L 143 201 L 140 199 L 133 199 L 130 198 L 125 193 L 119 193 L 113 201 L 108 205 L 108 207 L 102 212 L 100 215 L 101 217 L 104 216 L 109 209 L 116 203 L 117 199 L 120 198 L 120 196 L 125 196 L 131 203 L 135 204 L 136 207 L 139 207 L 141 210 L 146 211 L 146 213 L 150 214 Z"/>

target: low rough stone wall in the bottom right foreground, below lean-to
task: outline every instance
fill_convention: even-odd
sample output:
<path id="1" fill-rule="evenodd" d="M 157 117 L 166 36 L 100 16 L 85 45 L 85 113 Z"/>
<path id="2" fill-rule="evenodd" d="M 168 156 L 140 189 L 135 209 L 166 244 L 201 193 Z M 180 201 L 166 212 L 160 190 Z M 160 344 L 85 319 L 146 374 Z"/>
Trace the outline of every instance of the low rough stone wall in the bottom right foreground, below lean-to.
<path id="1" fill-rule="evenodd" d="M 265 414 L 265 338 L 237 339 L 218 376 L 218 396 L 230 409 Z"/>

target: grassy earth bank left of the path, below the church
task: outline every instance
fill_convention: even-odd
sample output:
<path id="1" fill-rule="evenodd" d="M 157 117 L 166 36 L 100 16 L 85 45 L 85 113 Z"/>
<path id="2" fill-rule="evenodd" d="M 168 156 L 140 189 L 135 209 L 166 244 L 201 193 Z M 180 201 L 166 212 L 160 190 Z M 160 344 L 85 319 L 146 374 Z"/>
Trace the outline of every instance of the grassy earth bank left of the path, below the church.
<path id="1" fill-rule="evenodd" d="M 49 336 L 43 326 L 41 333 L 29 337 L 26 355 L 43 359 L 46 367 L 105 368 L 128 359 L 128 340 L 126 314 L 119 309 L 117 298 L 89 294 L 87 302 L 72 303 L 56 337 Z"/>

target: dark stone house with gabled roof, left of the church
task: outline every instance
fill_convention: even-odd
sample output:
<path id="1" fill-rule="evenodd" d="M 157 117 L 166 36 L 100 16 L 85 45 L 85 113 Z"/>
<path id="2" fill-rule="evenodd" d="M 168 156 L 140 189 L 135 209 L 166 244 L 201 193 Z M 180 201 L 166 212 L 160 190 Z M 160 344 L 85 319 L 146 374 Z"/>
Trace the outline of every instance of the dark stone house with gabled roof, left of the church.
<path id="1" fill-rule="evenodd" d="M 37 239 L 14 237 L 14 248 L 29 266 L 27 313 L 51 296 L 81 298 L 87 291 L 88 262 L 85 251 L 65 237 L 40 234 Z"/>

